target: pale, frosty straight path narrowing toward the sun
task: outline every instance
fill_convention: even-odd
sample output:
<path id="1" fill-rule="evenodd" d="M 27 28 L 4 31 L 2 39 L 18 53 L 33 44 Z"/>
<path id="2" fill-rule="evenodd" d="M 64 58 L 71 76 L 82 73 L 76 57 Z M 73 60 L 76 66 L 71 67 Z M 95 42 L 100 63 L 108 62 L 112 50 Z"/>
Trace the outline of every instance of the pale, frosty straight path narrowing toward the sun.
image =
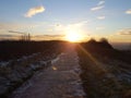
<path id="1" fill-rule="evenodd" d="M 11 98 L 84 98 L 79 57 L 69 49 L 16 89 Z"/>

